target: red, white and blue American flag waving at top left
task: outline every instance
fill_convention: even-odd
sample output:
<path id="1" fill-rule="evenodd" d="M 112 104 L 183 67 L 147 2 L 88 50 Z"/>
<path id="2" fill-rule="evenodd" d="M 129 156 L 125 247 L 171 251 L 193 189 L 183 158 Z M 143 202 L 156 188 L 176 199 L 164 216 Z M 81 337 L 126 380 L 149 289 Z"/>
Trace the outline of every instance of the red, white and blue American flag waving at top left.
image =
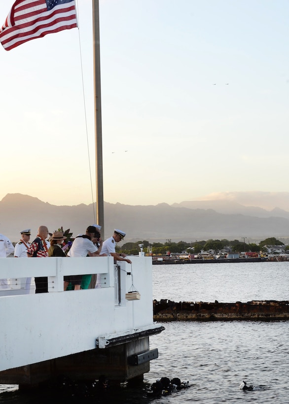
<path id="1" fill-rule="evenodd" d="M 75 0 L 16 0 L 0 29 L 4 49 L 77 27 Z"/>

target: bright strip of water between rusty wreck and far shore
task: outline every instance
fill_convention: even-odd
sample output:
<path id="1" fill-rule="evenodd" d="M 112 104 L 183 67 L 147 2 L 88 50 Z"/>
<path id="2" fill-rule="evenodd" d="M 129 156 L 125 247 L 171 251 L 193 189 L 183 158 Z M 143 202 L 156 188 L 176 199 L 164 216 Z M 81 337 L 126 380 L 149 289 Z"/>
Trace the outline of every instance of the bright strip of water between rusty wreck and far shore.
<path id="1" fill-rule="evenodd" d="M 226 303 L 289 300 L 289 262 L 154 265 L 153 298 Z"/>

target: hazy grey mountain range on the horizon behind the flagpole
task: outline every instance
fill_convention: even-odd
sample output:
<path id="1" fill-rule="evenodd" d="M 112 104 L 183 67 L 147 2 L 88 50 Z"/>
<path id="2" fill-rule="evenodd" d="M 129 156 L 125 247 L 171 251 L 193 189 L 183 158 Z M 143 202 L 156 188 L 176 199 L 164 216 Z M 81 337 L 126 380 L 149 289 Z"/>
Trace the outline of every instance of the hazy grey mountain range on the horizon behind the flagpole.
<path id="1" fill-rule="evenodd" d="M 164 242 L 170 238 L 172 241 L 190 242 L 209 238 L 241 240 L 242 237 L 264 239 L 269 236 L 289 236 L 287 211 L 276 208 L 268 212 L 233 202 L 226 204 L 218 201 L 217 206 L 213 202 L 147 206 L 105 202 L 105 238 L 112 234 L 114 228 L 127 233 L 125 241 L 145 239 Z M 73 236 L 76 236 L 84 233 L 86 227 L 93 223 L 92 204 L 56 206 L 22 194 L 7 194 L 0 201 L 0 233 L 11 241 L 17 241 L 19 231 L 26 228 L 31 228 L 33 236 L 36 236 L 39 225 L 46 225 L 50 232 L 60 226 L 70 228 Z"/>

